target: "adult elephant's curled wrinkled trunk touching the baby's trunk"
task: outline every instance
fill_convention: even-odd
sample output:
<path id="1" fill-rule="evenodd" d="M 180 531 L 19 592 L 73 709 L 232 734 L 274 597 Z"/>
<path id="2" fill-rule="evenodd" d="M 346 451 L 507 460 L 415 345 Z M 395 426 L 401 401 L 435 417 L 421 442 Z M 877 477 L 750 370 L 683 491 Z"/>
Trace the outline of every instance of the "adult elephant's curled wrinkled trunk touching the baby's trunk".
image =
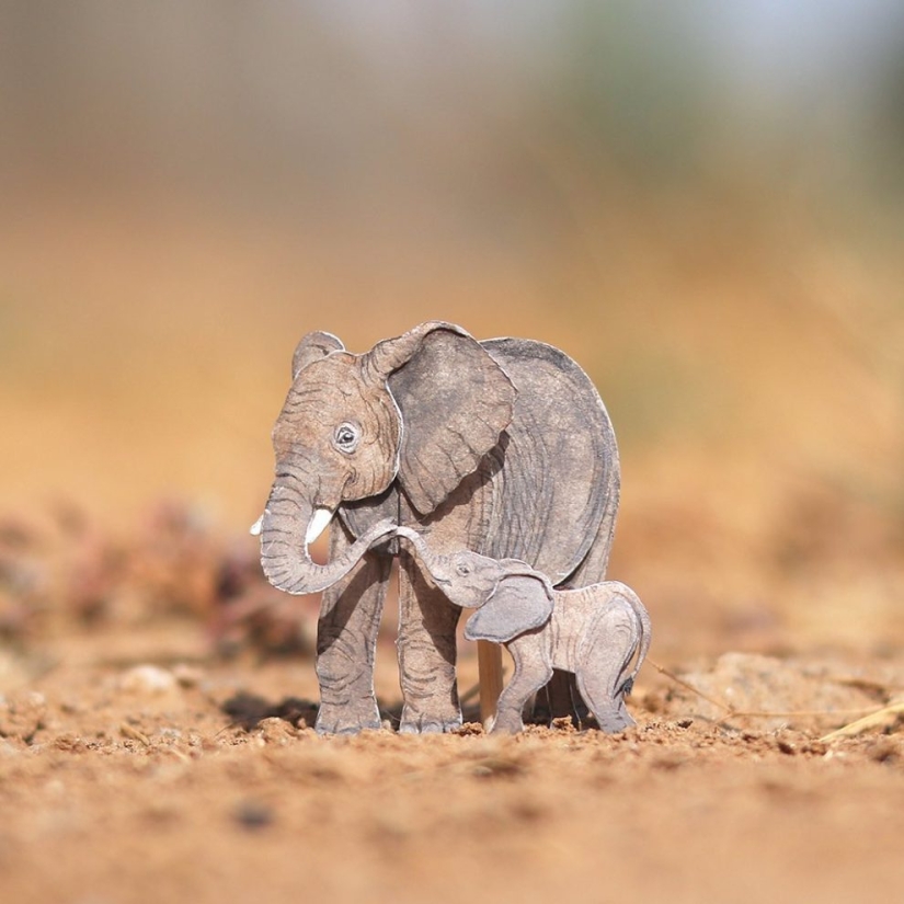
<path id="1" fill-rule="evenodd" d="M 317 528 L 325 527 L 320 523 L 324 511 L 314 510 L 293 487 L 274 485 L 261 517 L 260 533 L 261 567 L 277 590 L 298 595 L 332 586 L 355 567 L 371 543 L 396 527 L 391 522 L 380 522 L 341 556 L 319 565 L 312 561 L 308 543 L 320 533 Z"/>

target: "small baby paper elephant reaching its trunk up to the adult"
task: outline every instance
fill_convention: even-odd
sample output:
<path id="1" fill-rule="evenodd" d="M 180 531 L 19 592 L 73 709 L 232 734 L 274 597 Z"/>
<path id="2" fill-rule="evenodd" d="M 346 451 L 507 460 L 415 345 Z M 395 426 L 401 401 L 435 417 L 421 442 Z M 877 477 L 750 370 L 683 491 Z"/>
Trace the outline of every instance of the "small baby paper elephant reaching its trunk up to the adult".
<path id="1" fill-rule="evenodd" d="M 515 672 L 500 696 L 493 731 L 524 728 L 524 706 L 553 668 L 574 673 L 603 731 L 634 724 L 625 696 L 646 656 L 651 627 L 630 587 L 604 581 L 557 591 L 545 574 L 516 559 L 499 561 L 468 550 L 439 554 L 416 531 L 400 527 L 397 533 L 413 545 L 456 606 L 477 609 L 465 637 L 504 643 L 512 654 Z"/>

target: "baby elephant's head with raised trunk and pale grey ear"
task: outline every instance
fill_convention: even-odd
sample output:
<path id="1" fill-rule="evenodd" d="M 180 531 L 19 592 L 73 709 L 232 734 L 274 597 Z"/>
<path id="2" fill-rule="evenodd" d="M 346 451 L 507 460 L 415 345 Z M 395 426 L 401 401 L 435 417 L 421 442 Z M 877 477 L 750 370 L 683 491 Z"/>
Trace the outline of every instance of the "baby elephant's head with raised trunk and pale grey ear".
<path id="1" fill-rule="evenodd" d="M 491 559 L 470 550 L 440 554 L 411 528 L 398 527 L 396 535 L 411 542 L 450 603 L 477 609 L 465 625 L 468 640 L 506 643 L 546 625 L 552 615 L 552 585 L 526 562 Z"/>

